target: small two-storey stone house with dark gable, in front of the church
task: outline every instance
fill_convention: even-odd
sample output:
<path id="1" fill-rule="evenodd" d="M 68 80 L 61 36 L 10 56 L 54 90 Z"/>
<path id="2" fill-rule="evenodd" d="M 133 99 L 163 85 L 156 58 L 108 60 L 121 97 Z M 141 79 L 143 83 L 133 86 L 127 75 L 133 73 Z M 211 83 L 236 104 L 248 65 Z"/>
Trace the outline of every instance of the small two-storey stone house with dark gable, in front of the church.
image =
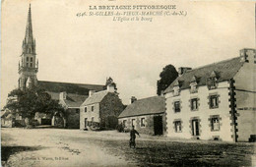
<path id="1" fill-rule="evenodd" d="M 123 110 L 123 104 L 114 85 L 114 83 L 109 83 L 106 90 L 90 91 L 89 97 L 80 109 L 81 130 L 116 128 L 117 117 Z"/>

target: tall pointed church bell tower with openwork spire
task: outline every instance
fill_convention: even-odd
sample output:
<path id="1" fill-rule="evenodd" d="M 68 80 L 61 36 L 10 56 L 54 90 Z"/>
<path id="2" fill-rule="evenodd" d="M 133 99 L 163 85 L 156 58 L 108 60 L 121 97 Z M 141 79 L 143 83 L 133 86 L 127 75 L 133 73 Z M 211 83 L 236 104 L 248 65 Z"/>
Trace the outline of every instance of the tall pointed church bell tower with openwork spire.
<path id="1" fill-rule="evenodd" d="M 37 83 L 36 73 L 38 71 L 38 60 L 35 53 L 35 39 L 32 37 L 32 10 L 31 4 L 29 8 L 26 34 L 23 40 L 22 55 L 19 61 L 19 81 L 18 85 L 21 89 L 32 87 Z M 30 85 L 30 86 L 28 86 Z"/>

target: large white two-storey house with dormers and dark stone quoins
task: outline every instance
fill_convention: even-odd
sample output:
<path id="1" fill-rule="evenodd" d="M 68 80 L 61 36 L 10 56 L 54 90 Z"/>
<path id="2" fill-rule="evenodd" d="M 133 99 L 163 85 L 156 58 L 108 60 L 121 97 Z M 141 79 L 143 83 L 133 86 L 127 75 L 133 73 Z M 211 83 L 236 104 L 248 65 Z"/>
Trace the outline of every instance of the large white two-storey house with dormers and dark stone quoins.
<path id="1" fill-rule="evenodd" d="M 165 90 L 167 136 L 248 141 L 256 137 L 255 49 L 204 67 L 179 68 Z"/>

